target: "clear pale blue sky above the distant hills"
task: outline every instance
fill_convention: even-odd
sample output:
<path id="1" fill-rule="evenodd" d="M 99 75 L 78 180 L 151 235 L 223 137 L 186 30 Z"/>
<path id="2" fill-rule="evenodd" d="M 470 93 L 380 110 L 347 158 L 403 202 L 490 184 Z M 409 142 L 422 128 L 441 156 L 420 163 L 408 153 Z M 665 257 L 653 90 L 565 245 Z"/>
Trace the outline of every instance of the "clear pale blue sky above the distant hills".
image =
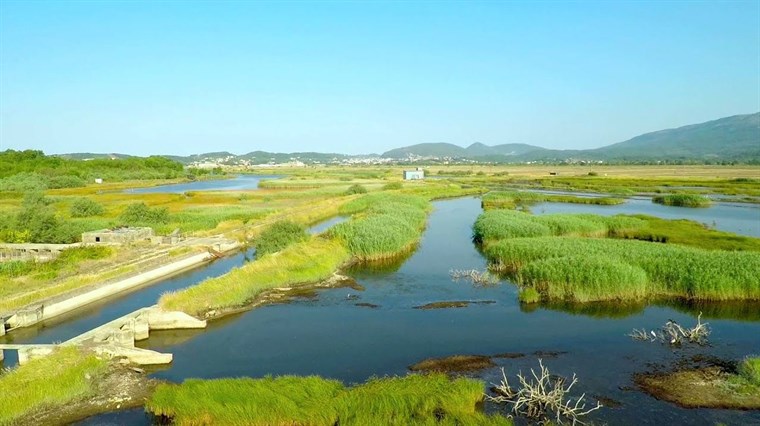
<path id="1" fill-rule="evenodd" d="M 0 0 L 2 150 L 591 148 L 757 111 L 757 0 Z"/>

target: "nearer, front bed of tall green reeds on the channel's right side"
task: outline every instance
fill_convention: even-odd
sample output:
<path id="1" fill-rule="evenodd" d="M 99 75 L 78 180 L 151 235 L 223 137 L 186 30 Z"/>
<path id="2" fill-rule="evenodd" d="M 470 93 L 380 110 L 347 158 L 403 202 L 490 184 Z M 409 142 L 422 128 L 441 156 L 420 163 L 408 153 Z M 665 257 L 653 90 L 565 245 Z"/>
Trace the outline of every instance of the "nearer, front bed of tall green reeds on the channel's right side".
<path id="1" fill-rule="evenodd" d="M 757 252 L 708 251 L 634 240 L 579 237 L 505 239 L 487 245 L 485 252 L 497 268 L 513 274 L 519 284 L 541 283 L 537 290 L 545 291 L 542 293 L 545 299 L 576 302 L 643 297 L 760 300 L 760 275 L 757 274 L 760 253 Z M 539 263 L 532 266 L 534 262 Z M 541 266 L 547 269 L 542 270 Z M 587 267 L 590 268 L 587 271 L 577 271 Z M 643 293 L 636 268 L 646 273 Z M 602 276 L 593 277 L 595 273 Z M 563 290 L 554 291 L 550 287 Z"/>

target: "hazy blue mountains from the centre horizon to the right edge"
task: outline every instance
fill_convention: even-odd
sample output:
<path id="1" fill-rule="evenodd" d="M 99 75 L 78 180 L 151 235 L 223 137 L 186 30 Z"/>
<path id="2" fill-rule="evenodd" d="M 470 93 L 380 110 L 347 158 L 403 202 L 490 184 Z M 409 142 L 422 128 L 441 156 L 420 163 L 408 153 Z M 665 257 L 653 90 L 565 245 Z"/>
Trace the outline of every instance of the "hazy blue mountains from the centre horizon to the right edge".
<path id="1" fill-rule="evenodd" d="M 422 143 L 396 148 L 382 156 L 399 160 L 448 157 L 493 162 L 760 160 L 760 113 L 646 133 L 596 149 L 553 150 L 526 144 L 488 146 L 480 142 L 462 148 L 450 143 Z"/>

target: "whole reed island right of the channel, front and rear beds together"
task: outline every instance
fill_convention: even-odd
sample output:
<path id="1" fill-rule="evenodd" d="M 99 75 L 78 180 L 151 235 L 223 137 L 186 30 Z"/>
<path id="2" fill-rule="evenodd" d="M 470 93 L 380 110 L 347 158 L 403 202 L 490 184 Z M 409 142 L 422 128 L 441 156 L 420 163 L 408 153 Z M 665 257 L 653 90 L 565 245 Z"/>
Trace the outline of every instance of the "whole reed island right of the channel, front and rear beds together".
<path id="1" fill-rule="evenodd" d="M 492 268 L 523 288 L 524 302 L 760 300 L 757 238 L 663 222 L 669 221 L 497 209 L 478 217 L 473 239 Z"/>

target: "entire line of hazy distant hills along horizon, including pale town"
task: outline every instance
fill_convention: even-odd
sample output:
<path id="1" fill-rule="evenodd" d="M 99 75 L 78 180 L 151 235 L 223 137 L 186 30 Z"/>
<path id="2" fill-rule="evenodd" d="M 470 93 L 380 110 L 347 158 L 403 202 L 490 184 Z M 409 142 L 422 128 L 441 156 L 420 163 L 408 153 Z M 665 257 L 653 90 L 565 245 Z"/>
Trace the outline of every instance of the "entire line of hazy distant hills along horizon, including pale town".
<path id="1" fill-rule="evenodd" d="M 64 158 L 129 158 L 124 154 L 74 153 Z M 480 161 L 519 163 L 526 161 L 760 161 L 760 112 L 735 115 L 676 129 L 660 130 L 636 136 L 624 142 L 596 149 L 557 150 L 509 143 L 485 145 L 475 142 L 467 148 L 446 142 L 420 143 L 376 154 L 345 155 L 319 152 L 275 153 L 252 151 L 243 155 L 227 151 L 189 156 L 164 157 L 186 165 L 216 163 L 250 166 L 302 162 L 305 164 L 387 163 L 398 160 Z"/>

